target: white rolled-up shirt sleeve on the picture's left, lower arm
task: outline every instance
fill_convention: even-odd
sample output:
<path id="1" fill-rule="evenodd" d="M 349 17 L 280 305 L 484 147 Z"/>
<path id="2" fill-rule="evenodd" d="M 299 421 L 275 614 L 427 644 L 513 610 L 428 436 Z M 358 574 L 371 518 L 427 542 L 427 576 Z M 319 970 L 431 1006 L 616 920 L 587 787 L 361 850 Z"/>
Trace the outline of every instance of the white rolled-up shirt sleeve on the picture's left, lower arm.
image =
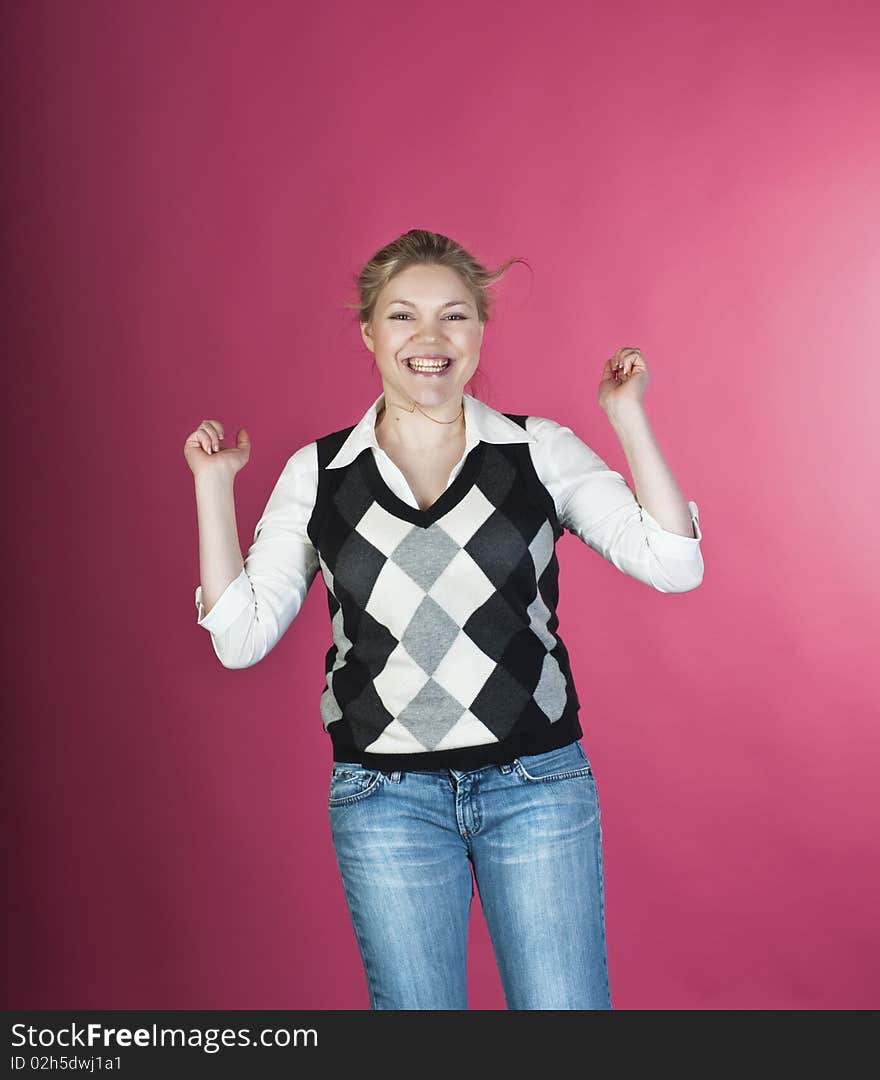
<path id="1" fill-rule="evenodd" d="M 242 572 L 204 611 L 195 588 L 198 625 L 211 633 L 225 667 L 251 667 L 279 643 L 302 607 L 320 566 L 307 528 L 317 494 L 317 447 L 309 443 L 285 464 L 254 529 Z"/>

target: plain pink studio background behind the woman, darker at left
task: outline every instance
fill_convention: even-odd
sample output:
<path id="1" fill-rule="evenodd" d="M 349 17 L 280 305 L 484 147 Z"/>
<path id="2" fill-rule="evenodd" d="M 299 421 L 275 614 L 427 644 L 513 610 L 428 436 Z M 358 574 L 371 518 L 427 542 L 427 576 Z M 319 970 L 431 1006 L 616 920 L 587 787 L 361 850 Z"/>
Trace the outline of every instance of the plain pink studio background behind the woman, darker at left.
<path id="1" fill-rule="evenodd" d="M 878 1008 L 877 4 L 30 0 L 4 31 L 6 1007 L 367 1008 L 324 585 L 224 669 L 182 444 L 249 431 L 246 551 L 379 393 L 343 305 L 421 227 L 533 268 L 484 400 L 632 483 L 596 388 L 639 346 L 701 511 L 688 594 L 557 549 L 615 1008 Z M 476 897 L 470 964 L 503 1009 Z"/>

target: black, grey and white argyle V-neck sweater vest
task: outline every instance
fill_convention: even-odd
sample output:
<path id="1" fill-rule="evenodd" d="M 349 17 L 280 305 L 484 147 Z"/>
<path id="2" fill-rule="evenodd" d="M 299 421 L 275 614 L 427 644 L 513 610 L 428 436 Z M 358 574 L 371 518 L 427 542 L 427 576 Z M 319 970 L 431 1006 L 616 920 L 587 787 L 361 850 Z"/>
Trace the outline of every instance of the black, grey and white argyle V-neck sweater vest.
<path id="1" fill-rule="evenodd" d="M 419 510 L 368 447 L 326 468 L 351 431 L 316 441 L 308 525 L 333 629 L 321 715 L 334 760 L 470 769 L 580 738 L 556 634 L 563 528 L 528 444 L 477 443 Z"/>

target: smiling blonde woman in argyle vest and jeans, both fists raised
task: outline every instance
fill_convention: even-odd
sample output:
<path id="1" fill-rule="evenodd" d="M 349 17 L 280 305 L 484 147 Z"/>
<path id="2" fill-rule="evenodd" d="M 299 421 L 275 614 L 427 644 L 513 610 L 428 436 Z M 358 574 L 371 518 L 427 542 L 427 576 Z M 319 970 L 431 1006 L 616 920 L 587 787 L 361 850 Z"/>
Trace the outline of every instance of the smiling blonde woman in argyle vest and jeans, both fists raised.
<path id="1" fill-rule="evenodd" d="M 569 428 L 465 393 L 510 265 L 491 274 L 424 230 L 369 260 L 358 320 L 382 393 L 289 458 L 244 562 L 246 431 L 226 447 L 205 420 L 185 445 L 199 625 L 227 667 L 261 660 L 324 578 L 330 832 L 373 1009 L 468 1008 L 474 880 L 509 1009 L 612 1008 L 555 544 L 568 528 L 661 592 L 703 577 L 698 507 L 651 435 L 638 349 L 606 363 L 598 400 L 650 512 Z"/>

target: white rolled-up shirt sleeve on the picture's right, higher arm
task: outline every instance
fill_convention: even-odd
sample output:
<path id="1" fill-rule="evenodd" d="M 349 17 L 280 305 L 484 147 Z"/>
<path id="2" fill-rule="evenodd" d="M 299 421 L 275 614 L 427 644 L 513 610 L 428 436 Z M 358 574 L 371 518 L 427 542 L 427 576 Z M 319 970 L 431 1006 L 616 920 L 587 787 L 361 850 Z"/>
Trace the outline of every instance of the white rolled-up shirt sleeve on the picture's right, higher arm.
<path id="1" fill-rule="evenodd" d="M 690 500 L 693 536 L 664 529 L 574 432 L 529 417 L 536 471 L 553 496 L 559 524 L 623 573 L 662 593 L 686 593 L 703 581 L 700 509 Z"/>

